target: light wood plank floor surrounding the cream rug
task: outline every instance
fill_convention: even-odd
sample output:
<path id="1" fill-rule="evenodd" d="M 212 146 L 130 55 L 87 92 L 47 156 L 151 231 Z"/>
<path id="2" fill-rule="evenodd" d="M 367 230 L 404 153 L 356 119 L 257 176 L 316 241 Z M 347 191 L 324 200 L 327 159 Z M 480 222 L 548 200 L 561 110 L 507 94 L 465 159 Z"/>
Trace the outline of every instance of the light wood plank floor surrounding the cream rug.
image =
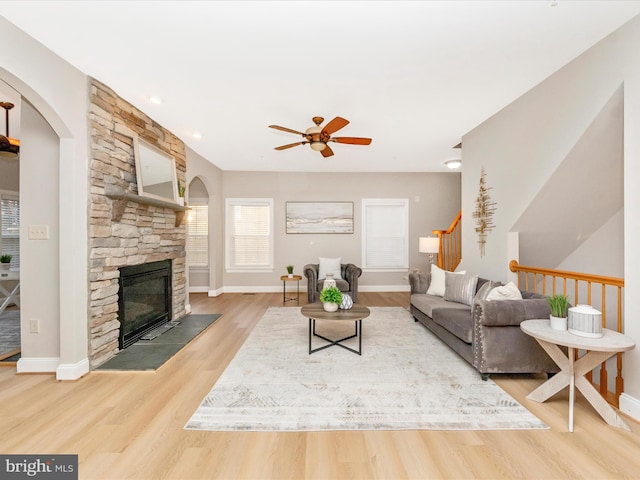
<path id="1" fill-rule="evenodd" d="M 408 293 L 362 293 L 359 303 L 407 306 Z M 550 430 L 183 430 L 266 308 L 282 306 L 282 294 L 192 294 L 191 305 L 223 316 L 156 372 L 57 382 L 0 368 L 0 453 L 78 454 L 81 479 L 640 478 L 638 423 L 627 419 L 634 432 L 610 427 L 578 395 L 568 433 L 568 395 L 528 401 L 543 381 L 528 375 L 495 380 Z"/>

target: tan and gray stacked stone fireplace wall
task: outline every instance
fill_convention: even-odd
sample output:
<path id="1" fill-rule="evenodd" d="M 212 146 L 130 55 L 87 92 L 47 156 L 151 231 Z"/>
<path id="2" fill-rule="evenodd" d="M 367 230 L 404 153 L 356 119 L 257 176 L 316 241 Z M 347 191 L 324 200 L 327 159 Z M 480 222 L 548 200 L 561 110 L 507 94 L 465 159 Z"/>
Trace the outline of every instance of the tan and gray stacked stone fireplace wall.
<path id="1" fill-rule="evenodd" d="M 94 79 L 90 79 L 89 128 L 89 358 L 96 367 L 118 352 L 120 267 L 171 259 L 174 319 L 184 316 L 187 303 L 186 227 L 175 226 L 175 210 L 129 201 L 120 220 L 114 221 L 113 200 L 105 195 L 105 185 L 137 194 L 131 132 L 175 158 L 183 185 L 186 153 L 175 135 Z"/>

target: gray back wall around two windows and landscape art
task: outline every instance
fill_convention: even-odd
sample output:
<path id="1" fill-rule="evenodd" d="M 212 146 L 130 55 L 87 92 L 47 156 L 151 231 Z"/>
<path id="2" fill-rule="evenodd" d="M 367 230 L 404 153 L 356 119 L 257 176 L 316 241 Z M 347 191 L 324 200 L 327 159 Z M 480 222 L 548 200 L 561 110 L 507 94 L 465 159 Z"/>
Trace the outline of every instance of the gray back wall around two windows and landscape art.
<path id="1" fill-rule="evenodd" d="M 342 257 L 345 263 L 362 264 L 363 198 L 409 199 L 409 267 L 426 269 L 427 258 L 418 253 L 418 237 L 433 229 L 447 228 L 460 210 L 459 173 L 277 173 L 223 172 L 224 197 L 269 197 L 274 199 L 275 271 L 269 273 L 224 273 L 227 291 L 282 288 L 285 266 L 302 274 L 307 263 L 318 257 Z M 347 201 L 354 203 L 354 234 L 287 234 L 285 202 Z M 216 259 L 224 264 L 224 257 Z M 363 290 L 406 290 L 407 271 L 365 272 Z"/>

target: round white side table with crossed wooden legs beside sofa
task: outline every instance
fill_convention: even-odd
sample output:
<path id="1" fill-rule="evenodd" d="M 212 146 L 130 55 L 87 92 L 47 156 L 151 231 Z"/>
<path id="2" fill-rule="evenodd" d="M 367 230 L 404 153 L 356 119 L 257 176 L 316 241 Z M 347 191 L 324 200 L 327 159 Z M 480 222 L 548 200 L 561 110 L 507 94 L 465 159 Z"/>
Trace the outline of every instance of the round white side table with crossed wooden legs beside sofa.
<path id="1" fill-rule="evenodd" d="M 573 432 L 573 402 L 575 387 L 577 387 L 609 425 L 630 431 L 627 424 L 584 378 L 584 375 L 616 353 L 633 350 L 635 348 L 633 339 L 606 328 L 603 329 L 602 338 L 580 337 L 566 330 L 552 329 L 548 319 L 525 320 L 520 324 L 520 328 L 524 333 L 535 338 L 560 367 L 559 373 L 527 395 L 527 399 L 544 402 L 569 386 L 569 431 Z M 560 346 L 568 348 L 568 355 L 565 355 Z M 587 353 L 575 360 L 576 349 L 587 350 Z"/>

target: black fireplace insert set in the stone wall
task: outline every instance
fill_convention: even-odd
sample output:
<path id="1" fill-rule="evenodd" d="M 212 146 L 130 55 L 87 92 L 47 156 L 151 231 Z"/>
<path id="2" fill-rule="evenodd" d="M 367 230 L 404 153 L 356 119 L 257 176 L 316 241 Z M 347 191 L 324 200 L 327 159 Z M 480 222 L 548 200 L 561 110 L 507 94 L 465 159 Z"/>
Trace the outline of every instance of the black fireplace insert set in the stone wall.
<path id="1" fill-rule="evenodd" d="M 120 349 L 171 320 L 171 260 L 120 269 Z"/>

